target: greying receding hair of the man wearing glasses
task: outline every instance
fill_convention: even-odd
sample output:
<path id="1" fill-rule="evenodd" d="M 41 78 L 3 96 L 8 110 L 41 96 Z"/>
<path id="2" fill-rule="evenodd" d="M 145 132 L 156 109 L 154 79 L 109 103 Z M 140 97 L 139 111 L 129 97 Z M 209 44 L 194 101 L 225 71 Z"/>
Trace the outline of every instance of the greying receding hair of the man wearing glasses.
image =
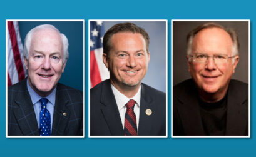
<path id="1" fill-rule="evenodd" d="M 188 35 L 187 35 L 187 55 L 188 56 L 192 53 L 192 43 L 193 43 L 193 39 L 195 38 L 195 35 L 199 31 L 202 31 L 202 29 L 206 29 L 206 28 L 221 28 L 224 31 L 226 31 L 230 35 L 230 37 L 233 41 L 232 56 L 239 55 L 239 46 L 240 45 L 239 45 L 239 41 L 238 41 L 238 35 L 234 29 L 225 28 L 218 23 L 204 23 L 204 24 L 201 24 L 200 26 L 198 26 L 197 28 L 193 29 L 192 31 L 190 31 L 190 33 L 188 33 Z"/>

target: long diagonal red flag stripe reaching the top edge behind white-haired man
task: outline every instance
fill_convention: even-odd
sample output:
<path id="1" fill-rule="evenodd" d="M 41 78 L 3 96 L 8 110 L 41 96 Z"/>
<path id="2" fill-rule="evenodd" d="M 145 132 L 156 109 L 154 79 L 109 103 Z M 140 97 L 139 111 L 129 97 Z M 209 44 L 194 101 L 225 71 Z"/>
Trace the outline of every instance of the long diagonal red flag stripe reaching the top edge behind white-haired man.
<path id="1" fill-rule="evenodd" d="M 21 56 L 19 54 L 18 42 L 16 38 L 16 32 L 14 29 L 13 21 L 8 21 L 8 30 L 9 30 L 11 44 L 13 48 L 14 61 L 15 61 L 16 69 L 19 74 L 19 81 L 21 81 L 25 78 L 25 73 L 24 73 L 23 64 L 21 61 Z"/>

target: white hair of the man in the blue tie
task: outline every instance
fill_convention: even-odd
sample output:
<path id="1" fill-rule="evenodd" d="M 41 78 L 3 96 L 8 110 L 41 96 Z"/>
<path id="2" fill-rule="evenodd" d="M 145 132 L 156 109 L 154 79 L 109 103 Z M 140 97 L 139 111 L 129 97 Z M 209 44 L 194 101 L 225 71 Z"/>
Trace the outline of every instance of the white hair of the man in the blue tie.
<path id="1" fill-rule="evenodd" d="M 41 29 L 52 29 L 54 31 L 57 31 L 59 33 L 59 36 L 62 39 L 62 43 L 63 43 L 63 63 L 68 59 L 69 53 L 68 53 L 68 38 L 66 38 L 66 36 L 61 33 L 57 28 L 55 28 L 53 25 L 51 24 L 42 24 L 39 26 L 36 26 L 35 28 L 31 29 L 28 34 L 26 35 L 25 41 L 24 41 L 24 49 L 23 49 L 23 54 L 26 57 L 26 59 L 28 59 L 29 56 L 29 49 L 31 46 L 31 39 L 33 34 Z"/>

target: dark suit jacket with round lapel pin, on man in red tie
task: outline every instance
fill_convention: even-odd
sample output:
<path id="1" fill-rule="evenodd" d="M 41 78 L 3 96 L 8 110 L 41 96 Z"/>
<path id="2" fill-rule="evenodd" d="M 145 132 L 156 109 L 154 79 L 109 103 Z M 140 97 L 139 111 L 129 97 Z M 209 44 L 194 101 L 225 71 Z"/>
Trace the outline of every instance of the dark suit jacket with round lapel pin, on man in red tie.
<path id="1" fill-rule="evenodd" d="M 139 136 L 166 135 L 165 99 L 165 93 L 141 84 Z M 91 136 L 122 136 L 125 134 L 109 79 L 91 89 L 90 101 Z M 151 109 L 150 116 L 146 115 L 146 109 Z"/>

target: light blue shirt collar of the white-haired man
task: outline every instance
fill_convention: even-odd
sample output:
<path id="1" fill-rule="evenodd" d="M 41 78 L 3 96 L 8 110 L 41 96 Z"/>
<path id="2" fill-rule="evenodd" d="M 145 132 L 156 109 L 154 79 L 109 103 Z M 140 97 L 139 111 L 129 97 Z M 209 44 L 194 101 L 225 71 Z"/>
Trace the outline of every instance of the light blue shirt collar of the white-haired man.
<path id="1" fill-rule="evenodd" d="M 38 95 L 38 93 L 36 93 L 31 86 L 28 83 L 28 79 L 27 79 L 27 88 L 28 88 L 28 92 L 32 101 L 32 104 L 36 104 L 41 98 L 41 96 Z M 51 94 L 49 94 L 48 96 L 44 97 L 46 99 L 48 99 L 48 101 L 53 104 L 53 106 L 55 105 L 55 96 L 56 96 L 56 87 L 54 88 L 54 90 L 51 92 Z"/>

